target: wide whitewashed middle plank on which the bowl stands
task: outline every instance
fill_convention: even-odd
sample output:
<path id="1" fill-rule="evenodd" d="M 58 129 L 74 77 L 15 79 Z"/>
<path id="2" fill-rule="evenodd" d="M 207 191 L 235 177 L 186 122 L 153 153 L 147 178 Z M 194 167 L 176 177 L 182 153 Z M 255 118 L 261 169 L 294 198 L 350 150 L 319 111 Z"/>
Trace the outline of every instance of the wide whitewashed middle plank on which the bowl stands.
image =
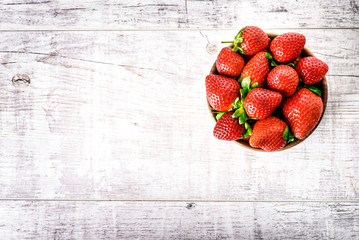
<path id="1" fill-rule="evenodd" d="M 271 154 L 212 136 L 204 78 L 235 31 L 1 33 L 0 196 L 358 199 L 358 31 L 302 32 L 330 66 L 327 112 Z"/>

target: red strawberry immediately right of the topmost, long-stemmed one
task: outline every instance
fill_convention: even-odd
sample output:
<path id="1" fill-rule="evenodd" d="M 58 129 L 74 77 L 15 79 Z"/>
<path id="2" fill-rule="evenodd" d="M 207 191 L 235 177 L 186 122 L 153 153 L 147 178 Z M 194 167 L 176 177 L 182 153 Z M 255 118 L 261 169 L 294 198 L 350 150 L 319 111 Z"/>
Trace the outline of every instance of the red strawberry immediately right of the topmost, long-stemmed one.
<path id="1" fill-rule="evenodd" d="M 300 33 L 284 33 L 275 37 L 270 44 L 270 51 L 275 60 L 281 63 L 296 60 L 305 45 L 305 37 Z"/>

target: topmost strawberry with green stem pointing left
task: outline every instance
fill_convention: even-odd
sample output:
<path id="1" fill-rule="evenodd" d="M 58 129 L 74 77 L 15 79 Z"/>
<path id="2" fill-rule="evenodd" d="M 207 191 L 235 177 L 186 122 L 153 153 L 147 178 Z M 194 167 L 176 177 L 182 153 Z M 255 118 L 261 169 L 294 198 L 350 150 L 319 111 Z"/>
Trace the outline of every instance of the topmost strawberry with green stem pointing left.
<path id="1" fill-rule="evenodd" d="M 223 43 L 233 43 L 234 51 L 239 51 L 245 55 L 254 55 L 268 47 L 269 38 L 259 27 L 247 26 L 239 31 L 235 36 L 234 41 Z"/>

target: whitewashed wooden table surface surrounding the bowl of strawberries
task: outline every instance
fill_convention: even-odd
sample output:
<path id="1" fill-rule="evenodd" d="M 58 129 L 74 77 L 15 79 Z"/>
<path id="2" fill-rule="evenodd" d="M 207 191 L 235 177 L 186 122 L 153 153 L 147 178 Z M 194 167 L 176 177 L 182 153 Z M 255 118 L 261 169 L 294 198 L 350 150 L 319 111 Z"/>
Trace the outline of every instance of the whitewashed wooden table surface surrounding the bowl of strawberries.
<path id="1" fill-rule="evenodd" d="M 204 79 L 245 25 L 328 63 L 278 153 L 212 136 Z M 359 2 L 3 0 L 0 239 L 359 239 Z"/>

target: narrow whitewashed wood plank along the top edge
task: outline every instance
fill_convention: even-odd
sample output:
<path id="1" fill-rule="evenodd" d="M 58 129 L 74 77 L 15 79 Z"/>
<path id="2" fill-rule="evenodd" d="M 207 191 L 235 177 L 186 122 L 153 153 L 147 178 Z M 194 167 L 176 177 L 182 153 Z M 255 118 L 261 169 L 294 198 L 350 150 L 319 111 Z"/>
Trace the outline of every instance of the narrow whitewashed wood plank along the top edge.
<path id="1" fill-rule="evenodd" d="M 3 0 L 0 29 L 357 28 L 359 4 L 265 0 Z"/>

